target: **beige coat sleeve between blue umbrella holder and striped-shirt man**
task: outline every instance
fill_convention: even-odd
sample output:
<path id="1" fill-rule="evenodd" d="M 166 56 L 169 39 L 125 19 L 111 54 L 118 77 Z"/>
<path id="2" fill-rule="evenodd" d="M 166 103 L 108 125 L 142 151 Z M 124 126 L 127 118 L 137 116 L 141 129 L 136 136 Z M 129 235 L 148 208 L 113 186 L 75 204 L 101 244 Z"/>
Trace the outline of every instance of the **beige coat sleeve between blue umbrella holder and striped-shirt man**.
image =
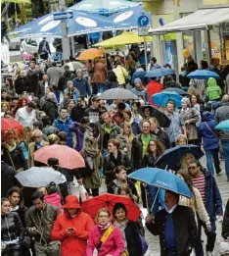
<path id="1" fill-rule="evenodd" d="M 194 198 L 190 199 L 185 196 L 180 196 L 179 205 L 188 206 L 193 209 L 193 211 L 198 213 L 200 219 L 206 223 L 206 225 L 210 225 L 209 216 L 206 212 L 206 207 L 202 199 L 202 195 L 198 188 L 193 186 Z"/>

